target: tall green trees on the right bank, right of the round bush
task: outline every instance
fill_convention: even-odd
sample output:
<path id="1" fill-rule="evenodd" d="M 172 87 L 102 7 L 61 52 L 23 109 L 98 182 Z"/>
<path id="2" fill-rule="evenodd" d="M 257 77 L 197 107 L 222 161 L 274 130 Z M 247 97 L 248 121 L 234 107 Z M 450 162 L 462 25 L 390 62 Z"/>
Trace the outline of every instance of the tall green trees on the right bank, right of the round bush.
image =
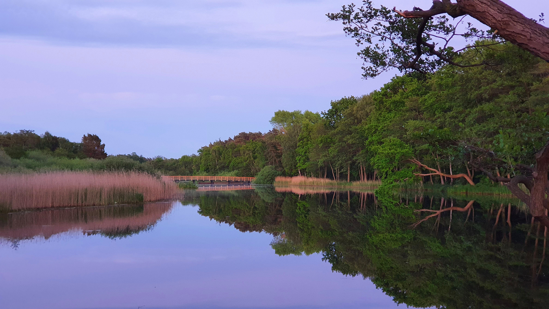
<path id="1" fill-rule="evenodd" d="M 468 163 L 482 155 L 474 150 L 479 148 L 507 162 L 502 175 L 516 174 L 518 163 L 533 164 L 534 153 L 549 138 L 549 65 L 510 43 L 477 49 L 481 53 L 455 57 L 498 64 L 445 65 L 424 78 L 395 76 L 369 95 L 332 101 L 318 123 L 298 126 L 279 120 L 298 113 L 277 114 L 273 123 L 284 130 L 285 174 L 335 180 L 349 174 L 359 180 L 363 170 L 367 179 L 383 178 L 395 187 L 405 179 L 421 180 L 413 173 L 427 173 L 406 162 L 416 158 L 443 173 L 473 173 L 478 181 L 478 170 Z M 432 179 L 444 180 L 435 175 L 423 181 Z"/>

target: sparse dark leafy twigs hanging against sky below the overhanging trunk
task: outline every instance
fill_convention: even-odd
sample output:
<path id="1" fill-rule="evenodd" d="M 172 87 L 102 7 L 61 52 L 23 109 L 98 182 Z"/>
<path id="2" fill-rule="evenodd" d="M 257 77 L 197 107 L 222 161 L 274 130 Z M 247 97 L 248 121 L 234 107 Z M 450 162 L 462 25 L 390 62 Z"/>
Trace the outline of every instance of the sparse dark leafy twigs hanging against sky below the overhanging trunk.
<path id="1" fill-rule="evenodd" d="M 467 54 L 469 49 L 483 55 L 489 52 L 475 49 L 475 47 L 493 47 L 503 42 L 504 40 L 498 38 L 493 31 L 479 30 L 470 23 L 464 25 L 461 19 L 457 19 L 456 24 L 450 24 L 446 15 L 436 15 L 428 19 L 406 19 L 383 5 L 376 8 L 370 0 L 362 2 L 363 6 L 360 8 L 351 3 L 344 5 L 339 13 L 329 13 L 327 16 L 331 20 L 343 22 L 345 35 L 355 38 L 356 46 L 366 45 L 358 52 L 358 56 L 369 64 L 362 68 L 364 78 L 376 77 L 393 68 L 424 78 L 425 74 L 433 73 L 446 62 L 464 65 L 500 63 L 496 61 L 497 59 L 483 56 L 479 57 L 483 58 L 481 61 L 471 61 L 470 58 L 473 57 L 459 59 L 459 56 Z M 442 5 L 440 2 L 435 4 Z M 456 6 L 453 4 L 453 7 Z M 446 9 L 450 12 L 449 7 Z M 452 14 L 449 13 L 449 15 Z M 421 39 L 419 46 L 418 36 Z M 463 48 L 452 47 L 450 42 L 452 38 L 460 36 L 465 41 L 478 39 L 492 41 Z M 437 46 L 437 43 L 440 44 Z"/>

